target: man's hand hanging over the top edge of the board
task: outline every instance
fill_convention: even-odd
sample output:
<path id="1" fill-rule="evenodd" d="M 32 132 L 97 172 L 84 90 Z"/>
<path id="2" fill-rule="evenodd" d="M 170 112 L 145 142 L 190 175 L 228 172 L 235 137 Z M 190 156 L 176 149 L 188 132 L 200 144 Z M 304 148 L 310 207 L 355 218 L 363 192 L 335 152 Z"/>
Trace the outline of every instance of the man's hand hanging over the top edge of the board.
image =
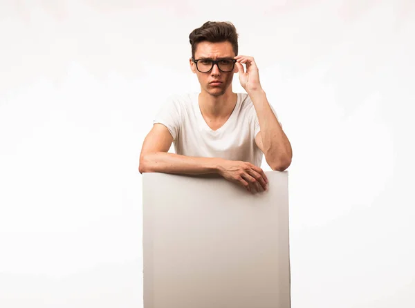
<path id="1" fill-rule="evenodd" d="M 264 171 L 250 162 L 223 160 L 219 164 L 219 175 L 230 182 L 241 185 L 250 193 L 267 189 L 268 179 Z"/>

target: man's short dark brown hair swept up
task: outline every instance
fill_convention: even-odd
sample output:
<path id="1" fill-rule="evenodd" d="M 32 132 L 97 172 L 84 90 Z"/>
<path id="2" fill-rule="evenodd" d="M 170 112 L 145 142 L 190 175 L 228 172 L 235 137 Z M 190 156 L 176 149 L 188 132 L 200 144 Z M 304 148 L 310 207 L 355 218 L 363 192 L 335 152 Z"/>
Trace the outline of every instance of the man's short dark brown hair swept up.
<path id="1" fill-rule="evenodd" d="M 192 45 L 192 57 L 196 51 L 197 44 L 201 41 L 212 43 L 229 41 L 235 55 L 238 55 L 238 34 L 237 29 L 230 21 L 207 21 L 201 28 L 194 29 L 189 35 Z"/>

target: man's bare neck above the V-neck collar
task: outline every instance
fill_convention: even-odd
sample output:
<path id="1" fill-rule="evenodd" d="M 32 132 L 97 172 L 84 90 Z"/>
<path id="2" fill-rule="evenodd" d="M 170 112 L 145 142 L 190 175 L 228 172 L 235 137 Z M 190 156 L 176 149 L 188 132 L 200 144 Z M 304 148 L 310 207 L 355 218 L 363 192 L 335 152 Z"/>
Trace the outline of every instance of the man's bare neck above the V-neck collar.
<path id="1" fill-rule="evenodd" d="M 228 118 L 236 104 L 237 93 L 233 93 L 232 89 L 220 96 L 210 95 L 205 91 L 199 94 L 201 112 L 211 119 Z"/>

